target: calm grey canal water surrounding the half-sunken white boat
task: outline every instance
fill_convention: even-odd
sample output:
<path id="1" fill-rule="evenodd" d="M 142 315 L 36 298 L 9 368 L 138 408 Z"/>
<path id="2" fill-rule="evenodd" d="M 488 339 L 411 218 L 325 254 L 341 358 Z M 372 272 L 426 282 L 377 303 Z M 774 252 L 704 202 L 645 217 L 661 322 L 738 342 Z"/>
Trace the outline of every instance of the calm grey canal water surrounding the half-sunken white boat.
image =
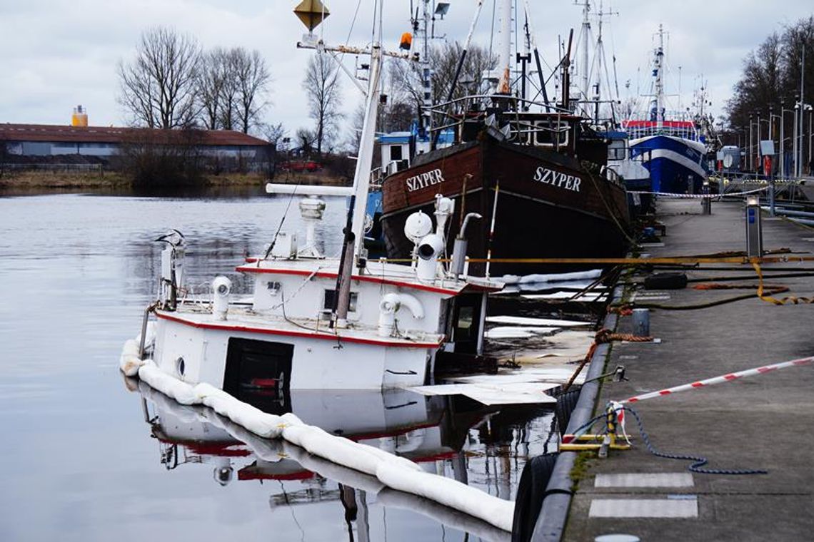
<path id="1" fill-rule="evenodd" d="M 296 450 L 263 452 L 211 412 L 125 385 L 121 347 L 155 297 L 152 240 L 184 232 L 190 284 L 239 280 L 230 271 L 264 249 L 288 206 L 260 194 L 0 196 L 0 540 L 508 540 L 437 505 L 353 488 L 352 473 L 316 475 Z M 287 215 L 284 229 L 297 230 L 296 201 Z M 328 224 L 343 218 L 344 202 L 330 199 L 328 253 L 339 247 Z M 540 410 L 392 394 L 292 406 L 507 499 L 551 422 Z M 285 461 L 271 460 L 281 451 Z"/>

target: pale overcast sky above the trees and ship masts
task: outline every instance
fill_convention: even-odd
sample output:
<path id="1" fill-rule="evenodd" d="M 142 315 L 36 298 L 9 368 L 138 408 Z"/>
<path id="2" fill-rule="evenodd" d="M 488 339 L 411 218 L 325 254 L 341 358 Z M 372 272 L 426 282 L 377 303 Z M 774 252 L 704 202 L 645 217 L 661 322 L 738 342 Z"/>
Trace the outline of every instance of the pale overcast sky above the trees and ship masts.
<path id="1" fill-rule="evenodd" d="M 420 0 L 413 0 L 418 5 Z M 290 132 L 308 126 L 301 89 L 309 50 L 297 50 L 304 27 L 292 13 L 297 0 L 0 0 L 0 122 L 69 124 L 72 108 L 86 107 L 90 124 L 121 125 L 127 115 L 116 102 L 116 64 L 133 57 L 144 28 L 169 25 L 195 36 L 204 48 L 243 46 L 265 57 L 274 76 L 265 120 L 282 122 Z M 370 41 L 373 1 L 362 0 L 350 43 Z M 386 0 L 385 46 L 396 49 L 409 30 L 409 0 Z M 450 0 L 449 15 L 437 25 L 447 39 L 463 41 L 475 0 Z M 522 6 L 523 2 L 519 2 Z M 545 60 L 558 62 L 558 36 L 579 33 L 581 9 L 573 0 L 531 0 L 532 24 Z M 598 3 L 598 2 L 597 2 Z M 617 59 L 619 86 L 641 90 L 648 74 L 653 34 L 659 24 L 669 33 L 668 63 L 675 93 L 681 66 L 684 101 L 699 76 L 708 80 L 712 111 L 720 115 L 742 59 L 775 29 L 812 15 L 811 0 L 610 0 L 618 16 L 606 26 L 606 55 Z M 357 0 L 326 0 L 331 15 L 322 32 L 326 42 L 344 43 Z M 475 41 L 488 44 L 492 2 L 484 3 Z M 607 23 L 606 23 L 607 24 Z M 594 28 L 596 23 L 594 22 Z M 320 28 L 317 28 L 317 32 Z M 353 59 L 347 62 L 352 66 Z M 550 92 L 550 90 L 549 90 Z M 359 100 L 344 80 L 344 110 Z"/>

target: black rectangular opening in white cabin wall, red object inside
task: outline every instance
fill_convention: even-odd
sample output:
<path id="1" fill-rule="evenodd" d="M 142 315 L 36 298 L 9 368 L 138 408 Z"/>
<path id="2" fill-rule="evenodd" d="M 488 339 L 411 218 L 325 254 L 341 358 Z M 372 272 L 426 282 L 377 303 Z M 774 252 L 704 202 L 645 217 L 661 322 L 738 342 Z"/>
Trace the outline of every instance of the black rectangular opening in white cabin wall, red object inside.
<path id="1" fill-rule="evenodd" d="M 269 414 L 291 411 L 294 345 L 266 340 L 229 340 L 223 389 Z"/>

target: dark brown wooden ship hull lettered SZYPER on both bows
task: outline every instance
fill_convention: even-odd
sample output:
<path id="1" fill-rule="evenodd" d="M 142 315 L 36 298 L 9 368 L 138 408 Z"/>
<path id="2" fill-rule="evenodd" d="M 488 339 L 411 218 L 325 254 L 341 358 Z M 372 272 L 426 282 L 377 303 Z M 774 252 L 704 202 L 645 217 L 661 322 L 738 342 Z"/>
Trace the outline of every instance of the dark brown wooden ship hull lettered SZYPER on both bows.
<path id="1" fill-rule="evenodd" d="M 629 225 L 621 183 L 588 171 L 569 154 L 498 141 L 481 133 L 477 141 L 419 154 L 411 166 L 388 176 L 382 186 L 382 228 L 390 258 L 409 258 L 405 219 L 417 210 L 432 215 L 435 195 L 455 201 L 449 240 L 462 217 L 483 219 L 466 228 L 470 258 L 608 258 L 625 251 Z M 497 197 L 497 205 L 495 198 Z M 490 240 L 492 211 L 494 232 Z M 451 254 L 451 245 L 449 247 Z M 589 266 L 599 267 L 599 266 Z M 492 263 L 489 274 L 529 275 L 585 269 L 540 263 Z M 470 274 L 485 271 L 470 265 Z"/>

